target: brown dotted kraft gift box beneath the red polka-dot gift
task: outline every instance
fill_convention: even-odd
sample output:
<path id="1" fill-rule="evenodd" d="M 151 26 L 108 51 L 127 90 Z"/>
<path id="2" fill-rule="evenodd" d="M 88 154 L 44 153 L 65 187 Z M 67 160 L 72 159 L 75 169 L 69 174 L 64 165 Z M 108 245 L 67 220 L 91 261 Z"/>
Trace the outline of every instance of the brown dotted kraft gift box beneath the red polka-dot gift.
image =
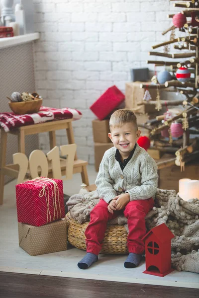
<path id="1" fill-rule="evenodd" d="M 18 223 L 18 237 L 19 246 L 31 256 L 66 250 L 66 221 L 41 226 Z"/>

